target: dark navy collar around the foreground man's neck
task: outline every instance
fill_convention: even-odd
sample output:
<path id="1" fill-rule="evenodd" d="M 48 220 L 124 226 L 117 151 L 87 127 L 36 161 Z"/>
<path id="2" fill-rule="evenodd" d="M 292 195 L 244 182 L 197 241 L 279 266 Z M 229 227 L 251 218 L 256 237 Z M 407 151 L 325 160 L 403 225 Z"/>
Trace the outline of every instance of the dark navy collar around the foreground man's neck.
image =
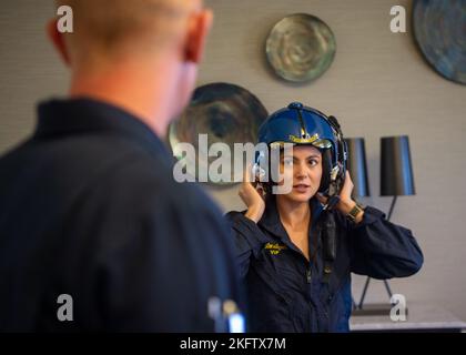
<path id="1" fill-rule="evenodd" d="M 139 118 L 93 99 L 51 100 L 38 106 L 34 139 L 85 133 L 111 133 L 133 140 L 143 149 L 173 162 L 165 144 Z"/>

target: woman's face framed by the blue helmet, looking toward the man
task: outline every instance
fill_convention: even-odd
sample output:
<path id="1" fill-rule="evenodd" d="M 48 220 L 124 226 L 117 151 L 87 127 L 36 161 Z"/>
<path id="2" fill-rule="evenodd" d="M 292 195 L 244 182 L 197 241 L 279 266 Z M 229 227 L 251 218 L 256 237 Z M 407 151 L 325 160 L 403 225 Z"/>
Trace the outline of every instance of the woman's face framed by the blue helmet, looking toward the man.
<path id="1" fill-rule="evenodd" d="M 284 195 L 294 202 L 307 202 L 318 191 L 322 179 L 322 154 L 312 145 L 296 145 L 293 155 L 281 156 L 281 172 L 293 179 L 292 191 Z"/>

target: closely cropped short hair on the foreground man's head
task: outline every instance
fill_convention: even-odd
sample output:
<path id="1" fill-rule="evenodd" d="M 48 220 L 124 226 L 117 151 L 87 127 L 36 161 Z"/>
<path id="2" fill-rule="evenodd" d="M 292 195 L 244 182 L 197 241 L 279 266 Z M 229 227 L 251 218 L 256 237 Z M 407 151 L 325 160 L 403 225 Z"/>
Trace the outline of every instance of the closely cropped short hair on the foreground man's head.
<path id="1" fill-rule="evenodd" d="M 109 53 L 122 44 L 149 49 L 172 42 L 199 0 L 57 0 L 73 10 L 72 47 Z M 179 33 L 180 32 L 180 33 Z M 145 41 L 145 42 L 144 42 Z"/>

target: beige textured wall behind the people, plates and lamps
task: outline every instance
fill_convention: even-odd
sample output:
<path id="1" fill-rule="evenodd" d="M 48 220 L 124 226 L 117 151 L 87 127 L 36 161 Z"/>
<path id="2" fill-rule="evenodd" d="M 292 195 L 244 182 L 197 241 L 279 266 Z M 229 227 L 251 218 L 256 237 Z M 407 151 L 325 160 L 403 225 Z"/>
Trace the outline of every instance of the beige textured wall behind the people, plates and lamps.
<path id="1" fill-rule="evenodd" d="M 393 220 L 409 226 L 425 253 L 419 274 L 393 281 L 409 303 L 444 306 L 466 321 L 466 87 L 444 80 L 425 64 L 411 30 L 389 32 L 394 0 L 210 0 L 215 26 L 200 84 L 226 81 L 251 90 L 270 112 L 301 100 L 335 114 L 347 136 L 365 136 L 373 197 L 377 197 L 379 138 L 408 134 L 417 195 L 398 199 Z M 271 27 L 293 12 L 322 18 L 333 29 L 337 54 L 316 82 L 291 85 L 264 60 Z M 0 11 L 0 152 L 24 139 L 34 124 L 33 105 L 65 92 L 68 74 L 44 37 L 52 1 L 3 0 Z M 242 209 L 236 187 L 210 189 L 225 210 Z M 355 277 L 356 298 L 362 277 Z M 368 302 L 384 300 L 378 283 Z"/>

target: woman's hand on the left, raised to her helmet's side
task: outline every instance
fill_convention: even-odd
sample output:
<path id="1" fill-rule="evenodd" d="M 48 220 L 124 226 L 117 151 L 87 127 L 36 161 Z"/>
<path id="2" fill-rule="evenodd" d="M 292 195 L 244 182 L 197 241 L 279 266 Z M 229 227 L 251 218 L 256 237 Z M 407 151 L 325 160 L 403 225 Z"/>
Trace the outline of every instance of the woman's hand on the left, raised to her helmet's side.
<path id="1" fill-rule="evenodd" d="M 265 211 L 264 190 L 261 184 L 251 182 L 251 175 L 252 169 L 247 166 L 239 195 L 247 206 L 245 216 L 257 223 Z"/>

